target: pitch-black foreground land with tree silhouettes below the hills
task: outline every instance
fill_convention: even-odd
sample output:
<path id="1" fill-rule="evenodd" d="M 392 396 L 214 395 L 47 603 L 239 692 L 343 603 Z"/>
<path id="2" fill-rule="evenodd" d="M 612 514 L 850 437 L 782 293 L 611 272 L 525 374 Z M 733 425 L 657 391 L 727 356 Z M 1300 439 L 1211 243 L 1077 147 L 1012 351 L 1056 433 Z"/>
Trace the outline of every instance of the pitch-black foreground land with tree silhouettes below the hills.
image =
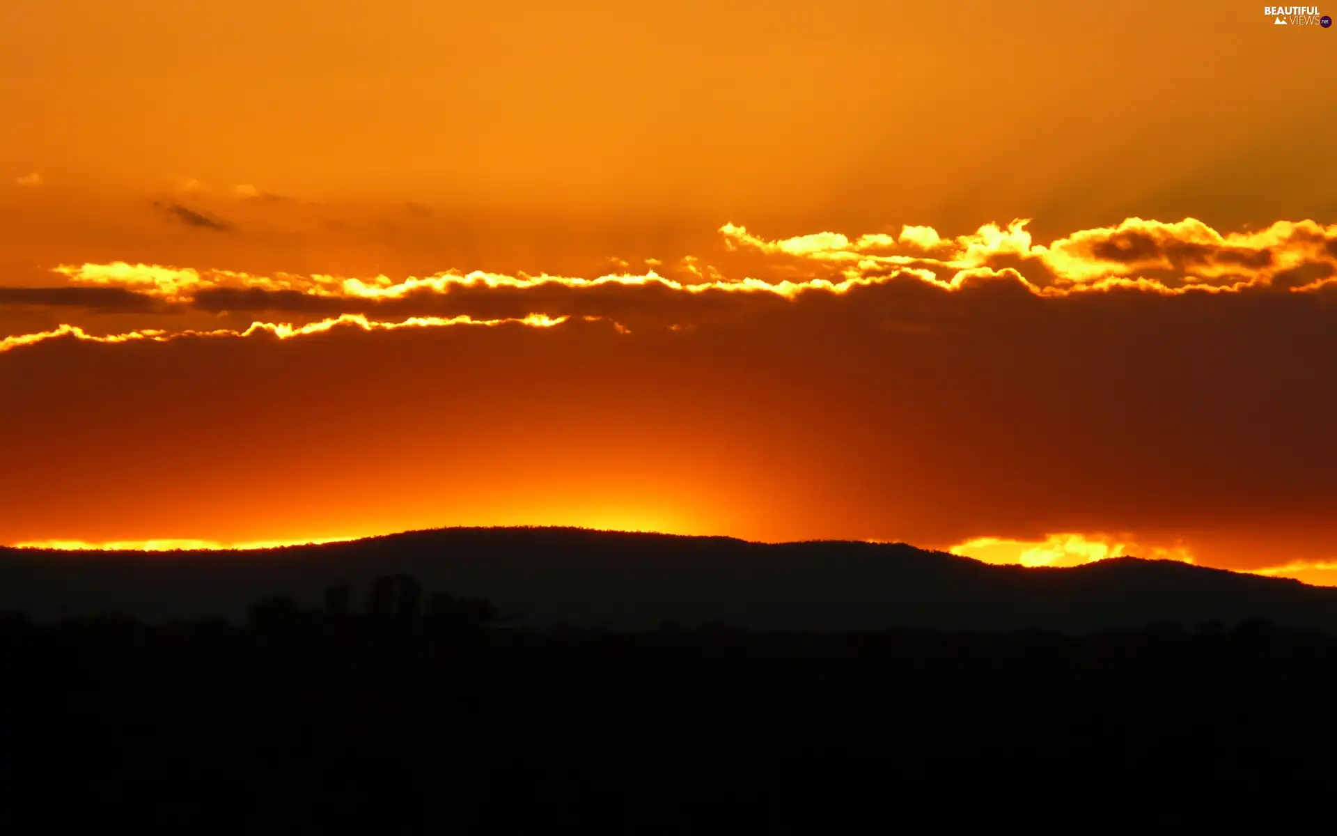
<path id="1" fill-rule="evenodd" d="M 245 625 L 0 615 L 0 825 L 809 833 L 1305 825 L 1337 638 L 516 627 L 412 577 Z"/>

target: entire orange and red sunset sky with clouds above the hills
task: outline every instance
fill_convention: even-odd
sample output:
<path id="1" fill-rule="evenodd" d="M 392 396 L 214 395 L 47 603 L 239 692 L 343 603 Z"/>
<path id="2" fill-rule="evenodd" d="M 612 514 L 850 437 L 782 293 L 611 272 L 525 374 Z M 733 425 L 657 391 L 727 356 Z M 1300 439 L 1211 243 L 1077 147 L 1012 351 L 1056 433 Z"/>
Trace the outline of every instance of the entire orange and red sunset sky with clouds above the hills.
<path id="1" fill-rule="evenodd" d="M 1337 585 L 1334 75 L 1206 0 L 8 0 L 0 544 Z"/>

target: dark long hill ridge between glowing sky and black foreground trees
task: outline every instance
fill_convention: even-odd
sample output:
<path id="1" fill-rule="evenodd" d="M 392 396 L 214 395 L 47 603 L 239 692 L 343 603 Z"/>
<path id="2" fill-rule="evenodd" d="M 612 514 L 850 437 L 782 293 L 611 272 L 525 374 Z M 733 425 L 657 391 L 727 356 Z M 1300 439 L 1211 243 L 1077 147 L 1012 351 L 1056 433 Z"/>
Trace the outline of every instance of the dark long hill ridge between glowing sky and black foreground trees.
<path id="1" fill-rule="evenodd" d="M 638 630 L 671 619 L 754 630 L 1042 629 L 1267 619 L 1337 631 L 1337 590 L 1169 560 L 992 566 L 906 544 L 763 544 L 582 528 L 443 528 L 257 551 L 0 548 L 0 610 L 241 619 L 261 595 L 301 605 L 338 579 L 409 574 L 517 622 Z"/>

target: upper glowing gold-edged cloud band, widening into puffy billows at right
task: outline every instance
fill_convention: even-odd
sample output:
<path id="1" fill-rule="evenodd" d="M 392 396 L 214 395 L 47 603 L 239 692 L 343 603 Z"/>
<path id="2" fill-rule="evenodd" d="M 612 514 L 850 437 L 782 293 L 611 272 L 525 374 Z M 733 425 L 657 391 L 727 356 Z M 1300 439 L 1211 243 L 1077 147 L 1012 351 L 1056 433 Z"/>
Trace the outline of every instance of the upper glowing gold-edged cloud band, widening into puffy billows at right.
<path id="1" fill-rule="evenodd" d="M 917 277 L 944 290 L 957 290 L 975 281 L 1017 281 L 1043 297 L 1114 288 L 1161 294 L 1219 293 L 1269 289 L 1278 284 L 1300 293 L 1337 281 L 1337 225 L 1278 221 L 1257 233 L 1221 234 L 1193 218 L 1175 223 L 1128 218 L 1114 227 L 1078 231 L 1043 246 L 1034 243 L 1027 223 L 1024 219 L 1007 227 L 988 223 L 956 238 L 943 238 L 928 226 L 904 226 L 898 235 L 866 234 L 852 239 L 837 233 L 816 233 L 778 241 L 759 238 L 733 223 L 719 229 L 730 250 L 808 265 L 808 277 L 802 281 L 726 278 L 714 268 L 701 266 L 694 257 L 686 257 L 678 268 L 689 281 L 662 276 L 652 269 L 659 264 L 656 259 L 646 262 L 651 266 L 646 273 L 596 278 L 447 270 L 394 281 L 386 276 L 250 276 L 126 262 L 60 265 L 55 272 L 72 284 L 131 288 L 172 302 L 187 302 L 197 293 L 215 289 L 291 292 L 357 302 L 402 300 L 420 293 L 448 294 L 456 289 L 595 290 L 606 286 L 796 298 L 804 292 L 846 293 L 901 276 Z M 762 264 L 759 269 L 767 266 Z"/>

